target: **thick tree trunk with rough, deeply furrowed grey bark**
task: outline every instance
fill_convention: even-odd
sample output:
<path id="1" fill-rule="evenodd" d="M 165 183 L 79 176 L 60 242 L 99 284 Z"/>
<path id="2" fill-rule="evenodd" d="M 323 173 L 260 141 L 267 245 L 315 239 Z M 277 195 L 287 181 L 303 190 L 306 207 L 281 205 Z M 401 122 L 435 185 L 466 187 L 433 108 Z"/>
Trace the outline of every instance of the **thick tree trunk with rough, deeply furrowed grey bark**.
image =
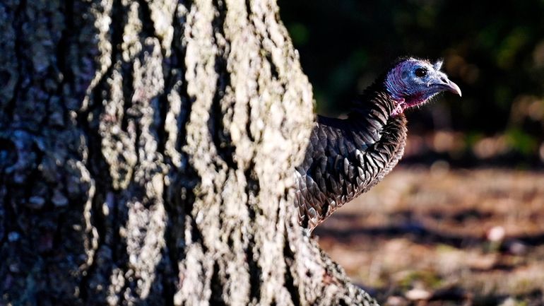
<path id="1" fill-rule="evenodd" d="M 0 305 L 376 305 L 297 223 L 274 0 L 6 0 L 0 46 Z"/>

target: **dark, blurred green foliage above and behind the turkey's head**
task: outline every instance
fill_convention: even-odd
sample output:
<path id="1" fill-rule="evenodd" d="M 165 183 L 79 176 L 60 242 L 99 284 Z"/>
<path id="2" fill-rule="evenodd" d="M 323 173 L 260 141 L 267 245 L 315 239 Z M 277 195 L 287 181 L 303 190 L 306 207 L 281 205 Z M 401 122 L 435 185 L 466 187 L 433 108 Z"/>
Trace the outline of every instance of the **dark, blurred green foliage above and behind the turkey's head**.
<path id="1" fill-rule="evenodd" d="M 514 155 L 538 160 L 544 141 L 544 1 L 279 4 L 314 86 L 319 113 L 345 112 L 354 94 L 396 57 L 442 57 L 463 98 L 444 95 L 432 107 L 410 112 L 412 131 L 441 128 L 512 137 L 507 130 L 514 129 L 520 136 L 509 141 Z M 516 117 L 516 107 L 524 107 L 516 101 L 531 96 L 536 97 L 533 111 Z"/>

